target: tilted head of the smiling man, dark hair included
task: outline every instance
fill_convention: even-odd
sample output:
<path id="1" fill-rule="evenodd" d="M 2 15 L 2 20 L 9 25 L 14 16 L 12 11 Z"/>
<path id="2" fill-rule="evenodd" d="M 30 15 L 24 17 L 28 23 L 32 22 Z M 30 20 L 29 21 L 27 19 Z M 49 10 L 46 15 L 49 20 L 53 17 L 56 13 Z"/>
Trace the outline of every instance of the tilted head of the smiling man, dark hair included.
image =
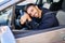
<path id="1" fill-rule="evenodd" d="M 32 3 L 29 3 L 24 9 L 31 17 L 39 17 L 40 9 Z"/>

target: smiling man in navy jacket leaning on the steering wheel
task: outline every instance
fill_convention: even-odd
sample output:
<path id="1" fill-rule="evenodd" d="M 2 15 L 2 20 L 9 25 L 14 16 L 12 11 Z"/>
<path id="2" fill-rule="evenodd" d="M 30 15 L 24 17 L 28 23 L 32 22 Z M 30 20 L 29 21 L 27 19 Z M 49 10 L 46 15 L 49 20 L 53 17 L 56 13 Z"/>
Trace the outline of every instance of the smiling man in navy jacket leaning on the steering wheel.
<path id="1" fill-rule="evenodd" d="M 25 6 L 25 14 L 21 17 L 21 24 L 24 25 L 26 20 L 30 22 L 30 27 L 34 30 L 47 29 L 58 26 L 57 19 L 54 13 L 49 13 L 49 10 L 38 8 L 37 5 L 29 3 Z M 35 23 L 32 22 L 36 22 Z"/>

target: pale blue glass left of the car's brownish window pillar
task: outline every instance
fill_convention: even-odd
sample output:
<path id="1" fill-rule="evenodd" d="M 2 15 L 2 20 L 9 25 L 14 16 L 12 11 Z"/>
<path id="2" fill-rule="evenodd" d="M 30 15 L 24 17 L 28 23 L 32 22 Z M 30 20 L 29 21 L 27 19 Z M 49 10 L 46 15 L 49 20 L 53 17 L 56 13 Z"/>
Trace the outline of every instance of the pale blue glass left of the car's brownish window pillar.
<path id="1" fill-rule="evenodd" d="M 0 12 L 0 26 L 8 25 L 12 10 Z"/>

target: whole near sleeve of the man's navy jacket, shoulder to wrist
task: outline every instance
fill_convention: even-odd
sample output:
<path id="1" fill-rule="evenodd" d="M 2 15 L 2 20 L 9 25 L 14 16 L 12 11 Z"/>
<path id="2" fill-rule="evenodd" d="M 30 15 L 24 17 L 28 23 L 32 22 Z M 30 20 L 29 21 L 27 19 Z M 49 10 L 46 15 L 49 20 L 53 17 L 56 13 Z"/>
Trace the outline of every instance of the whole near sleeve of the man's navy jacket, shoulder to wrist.
<path id="1" fill-rule="evenodd" d="M 55 25 L 57 25 L 57 22 L 56 22 L 56 17 L 54 14 L 44 15 L 44 17 L 42 18 L 40 24 L 38 24 L 36 22 L 28 23 L 28 26 L 31 27 L 30 28 L 31 30 L 47 29 L 47 28 L 51 28 Z"/>

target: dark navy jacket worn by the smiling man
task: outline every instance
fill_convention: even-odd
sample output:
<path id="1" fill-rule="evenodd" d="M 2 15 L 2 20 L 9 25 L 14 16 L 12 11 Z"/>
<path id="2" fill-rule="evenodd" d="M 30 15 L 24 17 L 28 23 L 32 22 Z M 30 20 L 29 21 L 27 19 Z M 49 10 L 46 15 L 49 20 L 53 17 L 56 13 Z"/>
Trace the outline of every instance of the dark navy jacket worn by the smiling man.
<path id="1" fill-rule="evenodd" d="M 47 9 L 41 9 L 41 18 L 32 18 L 32 22 L 28 23 L 29 29 L 40 30 L 58 26 L 55 13 L 50 12 Z"/>

